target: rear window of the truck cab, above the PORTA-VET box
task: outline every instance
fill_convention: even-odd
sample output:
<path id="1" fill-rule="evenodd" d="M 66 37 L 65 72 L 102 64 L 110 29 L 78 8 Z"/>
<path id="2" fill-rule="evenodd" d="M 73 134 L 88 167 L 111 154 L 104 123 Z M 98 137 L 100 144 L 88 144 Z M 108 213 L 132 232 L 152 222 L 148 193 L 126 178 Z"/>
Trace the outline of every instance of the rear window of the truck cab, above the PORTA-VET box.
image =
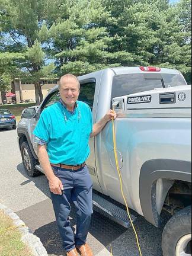
<path id="1" fill-rule="evenodd" d="M 181 75 L 167 73 L 116 75 L 113 78 L 111 100 L 114 97 L 149 91 L 161 87 L 175 87 L 177 85 L 187 85 Z"/>

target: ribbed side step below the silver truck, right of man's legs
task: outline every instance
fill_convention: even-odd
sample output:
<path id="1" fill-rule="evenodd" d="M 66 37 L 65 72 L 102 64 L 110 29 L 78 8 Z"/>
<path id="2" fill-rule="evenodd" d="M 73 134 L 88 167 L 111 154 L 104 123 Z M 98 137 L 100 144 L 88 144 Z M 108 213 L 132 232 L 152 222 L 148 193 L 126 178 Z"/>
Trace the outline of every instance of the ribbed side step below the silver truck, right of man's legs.
<path id="1" fill-rule="evenodd" d="M 95 212 L 103 214 L 114 222 L 117 222 L 121 226 L 124 226 L 124 228 L 130 228 L 130 226 L 132 226 L 127 212 L 121 209 L 119 206 L 116 206 L 115 204 L 111 203 L 110 201 L 104 199 L 101 196 L 98 196 L 98 194 L 95 193 L 92 194 L 92 203 L 95 206 Z M 130 216 L 133 222 L 137 220 L 137 217 L 133 215 Z"/>

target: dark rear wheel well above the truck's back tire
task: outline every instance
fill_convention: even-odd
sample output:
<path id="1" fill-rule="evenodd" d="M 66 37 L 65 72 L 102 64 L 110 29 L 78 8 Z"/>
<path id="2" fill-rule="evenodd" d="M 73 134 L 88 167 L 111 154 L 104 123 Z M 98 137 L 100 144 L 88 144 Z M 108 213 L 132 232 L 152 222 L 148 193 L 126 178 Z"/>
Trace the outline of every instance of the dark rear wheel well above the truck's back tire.
<path id="1" fill-rule="evenodd" d="M 191 205 L 191 183 L 175 180 L 167 193 L 163 210 L 174 215 L 178 210 Z"/>

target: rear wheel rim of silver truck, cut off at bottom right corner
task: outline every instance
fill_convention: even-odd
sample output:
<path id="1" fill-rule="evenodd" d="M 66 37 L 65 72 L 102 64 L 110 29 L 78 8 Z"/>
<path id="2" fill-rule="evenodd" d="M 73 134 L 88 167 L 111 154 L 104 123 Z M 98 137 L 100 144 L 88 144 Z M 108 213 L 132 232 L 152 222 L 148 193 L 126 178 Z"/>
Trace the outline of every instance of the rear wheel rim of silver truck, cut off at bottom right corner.
<path id="1" fill-rule="evenodd" d="M 183 236 L 180 239 L 180 241 L 178 241 L 175 256 L 191 256 L 191 247 L 190 247 L 190 252 L 187 251 L 187 248 L 190 242 L 191 242 L 191 234 Z"/>

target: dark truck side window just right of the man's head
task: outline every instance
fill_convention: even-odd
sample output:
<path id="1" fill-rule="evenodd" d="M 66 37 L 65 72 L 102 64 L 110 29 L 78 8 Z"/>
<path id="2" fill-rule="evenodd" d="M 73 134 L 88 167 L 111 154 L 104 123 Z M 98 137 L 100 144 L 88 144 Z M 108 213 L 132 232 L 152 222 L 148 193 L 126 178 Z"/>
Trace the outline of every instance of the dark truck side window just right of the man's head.
<path id="1" fill-rule="evenodd" d="M 83 101 L 87 103 L 92 110 L 92 106 L 94 103 L 94 95 L 95 95 L 95 82 L 88 82 L 81 84 L 80 87 L 80 94 L 79 94 L 79 101 Z"/>

